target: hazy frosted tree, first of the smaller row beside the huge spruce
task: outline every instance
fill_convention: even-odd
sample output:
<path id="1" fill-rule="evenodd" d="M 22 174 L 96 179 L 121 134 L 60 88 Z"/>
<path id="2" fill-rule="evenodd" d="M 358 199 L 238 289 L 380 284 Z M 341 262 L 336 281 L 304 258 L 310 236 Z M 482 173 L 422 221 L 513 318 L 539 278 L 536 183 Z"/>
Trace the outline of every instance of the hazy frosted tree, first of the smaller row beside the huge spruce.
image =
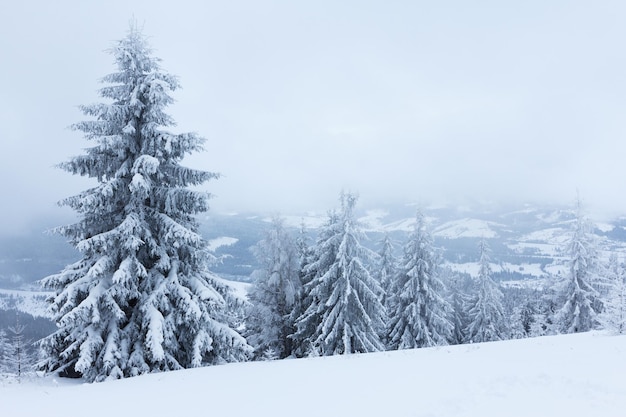
<path id="1" fill-rule="evenodd" d="M 254 271 L 248 293 L 246 338 L 255 349 L 255 358 L 274 355 L 283 359 L 292 354 L 289 336 L 295 332 L 290 313 L 300 291 L 297 246 L 284 221 L 276 217 L 253 250 L 261 268 Z"/>

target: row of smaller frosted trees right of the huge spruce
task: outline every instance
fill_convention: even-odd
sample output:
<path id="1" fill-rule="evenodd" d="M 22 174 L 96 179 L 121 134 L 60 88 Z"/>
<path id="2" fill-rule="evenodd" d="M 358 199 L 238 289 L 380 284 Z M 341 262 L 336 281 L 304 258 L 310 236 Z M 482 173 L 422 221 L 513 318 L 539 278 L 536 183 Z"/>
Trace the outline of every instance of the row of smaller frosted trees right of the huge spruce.
<path id="1" fill-rule="evenodd" d="M 478 272 L 453 272 L 424 216 L 396 259 L 389 236 L 374 253 L 361 244 L 356 197 L 342 194 L 313 244 L 280 218 L 255 247 L 245 334 L 255 358 L 335 355 L 505 340 L 592 329 L 625 331 L 624 265 L 598 257 L 579 207 L 567 244 L 569 273 L 541 290 L 503 288 L 490 248 L 479 242 Z"/>

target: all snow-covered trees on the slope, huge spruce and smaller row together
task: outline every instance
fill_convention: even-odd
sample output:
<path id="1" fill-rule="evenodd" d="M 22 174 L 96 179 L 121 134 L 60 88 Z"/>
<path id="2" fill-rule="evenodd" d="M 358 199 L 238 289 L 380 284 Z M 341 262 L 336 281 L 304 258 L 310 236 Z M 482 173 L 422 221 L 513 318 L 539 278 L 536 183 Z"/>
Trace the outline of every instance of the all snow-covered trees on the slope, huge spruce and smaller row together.
<path id="1" fill-rule="evenodd" d="M 375 254 L 361 244 L 352 194 L 342 194 L 314 243 L 304 233 L 289 236 L 276 220 L 256 247 L 263 268 L 242 302 L 210 271 L 215 259 L 195 218 L 211 197 L 197 186 L 219 174 L 181 165 L 205 139 L 167 130 L 175 124 L 165 110 L 178 79 L 161 69 L 135 27 L 110 52 L 117 71 L 102 79 L 106 102 L 80 107 L 88 120 L 72 126 L 92 146 L 59 165 L 96 185 L 60 202 L 79 220 L 56 231 L 81 259 L 41 281 L 54 292 L 49 311 L 57 328 L 39 342 L 38 369 L 102 381 L 250 358 L 510 337 L 486 242 L 469 286 L 442 267 L 421 214 L 400 259 L 389 239 Z M 577 224 L 571 279 L 552 304 L 519 314 L 549 333 L 595 328 L 610 311 L 621 331 L 621 266 L 615 261 L 621 289 L 618 278 L 596 280 L 587 223 Z"/>

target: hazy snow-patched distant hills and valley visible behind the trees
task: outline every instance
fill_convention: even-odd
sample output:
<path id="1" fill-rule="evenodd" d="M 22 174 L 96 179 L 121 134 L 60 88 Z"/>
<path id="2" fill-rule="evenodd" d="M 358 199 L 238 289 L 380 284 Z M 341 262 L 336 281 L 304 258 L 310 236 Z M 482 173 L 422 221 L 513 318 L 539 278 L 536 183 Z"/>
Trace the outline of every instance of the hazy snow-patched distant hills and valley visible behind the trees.
<path id="1" fill-rule="evenodd" d="M 368 236 L 365 244 L 377 250 L 384 234 L 389 234 L 400 255 L 416 210 L 415 205 L 361 208 L 359 220 Z M 436 245 L 442 248 L 445 263 L 454 270 L 472 272 L 478 241 L 484 238 L 492 248 L 494 271 L 501 280 L 563 273 L 563 248 L 574 220 L 573 210 L 568 207 L 526 205 L 507 209 L 487 205 L 421 210 Z M 200 233 L 218 258 L 212 270 L 227 279 L 248 280 L 258 267 L 250 248 L 263 238 L 271 217 L 263 213 L 209 212 L 200 219 Z M 312 243 L 327 213 L 283 217 L 294 233 L 304 227 Z M 10 238 L 0 236 L 0 288 L 36 289 L 36 281 L 79 258 L 62 237 L 44 234 L 45 228 Z M 622 257 L 626 254 L 626 219 L 597 224 L 595 234 L 603 258 L 611 252 Z"/>

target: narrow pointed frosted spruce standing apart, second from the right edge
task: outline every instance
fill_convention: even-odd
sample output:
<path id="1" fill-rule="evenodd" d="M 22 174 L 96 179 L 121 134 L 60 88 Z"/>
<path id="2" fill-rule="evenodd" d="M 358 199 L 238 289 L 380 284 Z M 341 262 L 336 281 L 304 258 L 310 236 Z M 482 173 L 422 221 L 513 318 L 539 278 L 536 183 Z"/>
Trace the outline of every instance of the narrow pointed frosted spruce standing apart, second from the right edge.
<path id="1" fill-rule="evenodd" d="M 598 326 L 603 302 L 594 288 L 599 282 L 600 265 L 593 224 L 584 214 L 580 199 L 576 202 L 576 219 L 567 253 L 569 274 L 559 289 L 561 307 L 556 314 L 556 324 L 561 333 L 587 332 Z"/>

